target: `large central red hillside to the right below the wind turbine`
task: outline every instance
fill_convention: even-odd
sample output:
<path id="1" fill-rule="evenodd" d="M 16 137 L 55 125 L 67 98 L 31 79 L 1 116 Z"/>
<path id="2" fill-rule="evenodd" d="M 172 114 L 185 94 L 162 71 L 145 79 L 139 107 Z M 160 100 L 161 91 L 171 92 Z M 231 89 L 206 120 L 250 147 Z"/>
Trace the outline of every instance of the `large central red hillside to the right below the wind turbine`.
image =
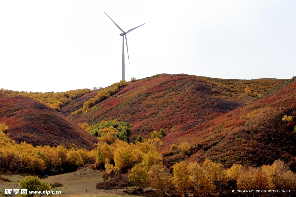
<path id="1" fill-rule="evenodd" d="M 97 104 L 98 109 L 72 116 L 71 119 L 75 123 L 87 122 L 94 125 L 102 120 L 120 118 L 133 125 L 130 139 L 135 141 L 139 134 L 147 138 L 151 131 L 160 128 L 164 128 L 166 134 L 184 132 L 252 101 L 249 95 L 241 96 L 246 86 L 251 88 L 255 97 L 285 81 L 159 74 L 130 82 L 120 92 Z M 85 101 L 83 98 L 89 97 L 89 94 L 79 98 L 81 101 L 72 100 L 62 107 L 61 112 L 75 111 L 82 107 L 82 101 Z M 73 110 L 69 109 L 71 103 L 76 106 Z"/>

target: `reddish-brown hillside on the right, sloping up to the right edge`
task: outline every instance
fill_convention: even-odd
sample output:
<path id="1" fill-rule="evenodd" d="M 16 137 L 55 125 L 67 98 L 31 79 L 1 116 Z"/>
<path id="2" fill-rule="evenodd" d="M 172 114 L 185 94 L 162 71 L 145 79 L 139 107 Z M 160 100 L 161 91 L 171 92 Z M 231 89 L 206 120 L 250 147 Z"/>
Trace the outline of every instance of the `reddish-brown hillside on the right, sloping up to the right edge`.
<path id="1" fill-rule="evenodd" d="M 292 116 L 293 121 L 289 124 L 282 121 L 284 115 Z M 165 159 L 167 165 L 184 158 L 170 150 L 170 144 L 187 141 L 192 146 L 192 155 L 187 157 L 190 161 L 210 158 L 226 166 L 234 163 L 261 166 L 281 159 L 296 170 L 295 122 L 296 81 L 195 128 L 169 133 L 163 138 L 165 143 L 160 150 L 170 155 Z"/>

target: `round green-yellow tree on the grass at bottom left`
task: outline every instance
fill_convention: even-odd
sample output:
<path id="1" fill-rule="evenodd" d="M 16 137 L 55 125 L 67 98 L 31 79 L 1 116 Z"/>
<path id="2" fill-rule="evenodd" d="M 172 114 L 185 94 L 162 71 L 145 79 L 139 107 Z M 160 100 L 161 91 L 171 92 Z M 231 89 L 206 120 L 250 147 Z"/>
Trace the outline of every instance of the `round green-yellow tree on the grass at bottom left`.
<path id="1" fill-rule="evenodd" d="M 41 197 L 42 195 L 46 195 L 43 194 L 42 192 L 40 194 L 30 194 L 29 191 L 46 191 L 46 190 L 51 190 L 52 187 L 44 182 L 41 181 L 37 176 L 26 176 L 23 180 L 20 181 L 20 186 L 21 189 L 28 189 L 28 197 L 33 197 L 33 196 L 37 196 L 37 197 Z M 26 196 L 25 194 L 22 194 L 21 196 Z M 49 194 L 49 196 L 52 196 L 51 194 Z"/>

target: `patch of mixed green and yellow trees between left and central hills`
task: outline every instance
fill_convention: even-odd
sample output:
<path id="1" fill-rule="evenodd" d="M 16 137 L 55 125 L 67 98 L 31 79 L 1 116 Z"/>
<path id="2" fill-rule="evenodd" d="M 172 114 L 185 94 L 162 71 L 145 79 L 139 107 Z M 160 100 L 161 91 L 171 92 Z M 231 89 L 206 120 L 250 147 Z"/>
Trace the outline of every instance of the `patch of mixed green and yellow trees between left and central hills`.
<path id="1" fill-rule="evenodd" d="M 120 122 L 118 119 L 101 121 L 101 123 L 92 126 L 87 123 L 79 123 L 78 125 L 107 144 L 114 143 L 117 138 L 127 142 L 132 127 L 130 123 Z"/>

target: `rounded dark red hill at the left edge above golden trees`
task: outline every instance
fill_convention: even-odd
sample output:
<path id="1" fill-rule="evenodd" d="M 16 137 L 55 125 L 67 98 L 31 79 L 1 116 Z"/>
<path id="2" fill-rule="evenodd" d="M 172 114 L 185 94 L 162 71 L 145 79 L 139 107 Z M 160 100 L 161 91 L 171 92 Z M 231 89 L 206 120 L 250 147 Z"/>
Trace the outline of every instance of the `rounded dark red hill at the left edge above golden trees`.
<path id="1" fill-rule="evenodd" d="M 17 143 L 25 141 L 33 146 L 63 144 L 90 150 L 99 141 L 43 103 L 22 96 L 1 95 L 0 123 L 8 126 L 6 136 Z"/>

